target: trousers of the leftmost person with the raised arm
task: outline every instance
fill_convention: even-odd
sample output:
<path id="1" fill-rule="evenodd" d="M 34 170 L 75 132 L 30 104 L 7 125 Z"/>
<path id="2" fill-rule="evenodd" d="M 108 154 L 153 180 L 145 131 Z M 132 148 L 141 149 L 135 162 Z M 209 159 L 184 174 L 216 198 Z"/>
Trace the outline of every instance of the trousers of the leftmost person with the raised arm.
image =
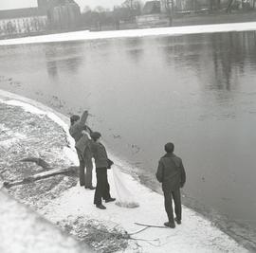
<path id="1" fill-rule="evenodd" d="M 80 185 L 85 187 L 92 187 L 92 170 L 93 170 L 92 156 L 90 152 L 86 152 L 86 150 L 84 154 L 82 154 L 80 150 L 77 150 L 77 154 L 79 157 Z"/>

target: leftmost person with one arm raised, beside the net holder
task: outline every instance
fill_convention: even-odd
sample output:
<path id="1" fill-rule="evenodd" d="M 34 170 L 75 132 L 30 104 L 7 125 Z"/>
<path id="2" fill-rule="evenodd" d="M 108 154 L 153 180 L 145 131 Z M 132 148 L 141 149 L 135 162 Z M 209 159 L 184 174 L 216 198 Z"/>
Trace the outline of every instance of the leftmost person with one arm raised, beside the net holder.
<path id="1" fill-rule="evenodd" d="M 90 129 L 85 125 L 86 119 L 88 117 L 88 112 L 84 111 L 82 117 L 78 115 L 73 115 L 70 117 L 70 128 L 69 133 L 75 139 L 76 150 L 79 157 L 80 163 L 80 185 L 84 186 L 85 189 L 94 190 L 95 188 L 92 185 L 92 154 L 90 151 L 90 138 L 87 132 L 90 132 Z M 84 173 L 84 169 L 86 172 Z"/>

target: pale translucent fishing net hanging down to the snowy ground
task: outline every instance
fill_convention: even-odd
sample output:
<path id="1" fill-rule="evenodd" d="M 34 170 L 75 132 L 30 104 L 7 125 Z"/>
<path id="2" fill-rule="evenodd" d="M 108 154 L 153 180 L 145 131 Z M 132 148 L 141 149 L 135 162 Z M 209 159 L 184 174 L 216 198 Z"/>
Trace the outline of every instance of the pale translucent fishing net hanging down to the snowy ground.
<path id="1" fill-rule="evenodd" d="M 125 184 L 124 174 L 119 171 L 117 166 L 113 166 L 111 168 L 113 172 L 113 178 L 117 190 L 117 201 L 116 205 L 121 208 L 137 208 L 139 207 L 135 196 L 133 193 L 128 189 L 127 184 Z"/>

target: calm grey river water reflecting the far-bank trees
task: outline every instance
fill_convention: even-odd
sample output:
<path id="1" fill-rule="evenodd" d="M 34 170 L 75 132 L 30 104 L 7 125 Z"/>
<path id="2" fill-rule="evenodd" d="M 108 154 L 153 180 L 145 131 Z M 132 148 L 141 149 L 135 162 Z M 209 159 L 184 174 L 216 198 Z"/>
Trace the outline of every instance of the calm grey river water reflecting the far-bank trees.
<path id="1" fill-rule="evenodd" d="M 0 46 L 0 88 L 89 125 L 155 183 L 175 144 L 184 193 L 256 227 L 256 32 Z"/>

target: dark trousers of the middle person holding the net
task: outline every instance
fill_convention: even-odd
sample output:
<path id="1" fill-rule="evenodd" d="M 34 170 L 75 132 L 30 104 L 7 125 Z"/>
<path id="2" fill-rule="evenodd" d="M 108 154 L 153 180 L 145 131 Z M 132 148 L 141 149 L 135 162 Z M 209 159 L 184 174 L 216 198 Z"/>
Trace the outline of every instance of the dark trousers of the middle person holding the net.
<path id="1" fill-rule="evenodd" d="M 101 205 L 101 200 L 110 199 L 107 169 L 96 168 L 97 186 L 94 194 L 94 204 Z"/>

